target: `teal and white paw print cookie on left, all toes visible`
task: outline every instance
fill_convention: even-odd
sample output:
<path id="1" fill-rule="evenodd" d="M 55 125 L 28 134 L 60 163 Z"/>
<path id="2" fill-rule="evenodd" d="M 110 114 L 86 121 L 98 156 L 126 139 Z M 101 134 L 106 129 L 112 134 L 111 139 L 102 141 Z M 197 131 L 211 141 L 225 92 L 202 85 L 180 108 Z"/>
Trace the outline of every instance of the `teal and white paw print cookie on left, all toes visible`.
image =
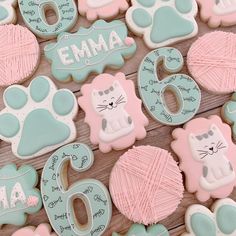
<path id="1" fill-rule="evenodd" d="M 13 85 L 3 99 L 0 138 L 12 143 L 17 157 L 43 155 L 76 138 L 76 98 L 67 89 L 57 90 L 48 77 L 35 78 L 28 88 Z"/>

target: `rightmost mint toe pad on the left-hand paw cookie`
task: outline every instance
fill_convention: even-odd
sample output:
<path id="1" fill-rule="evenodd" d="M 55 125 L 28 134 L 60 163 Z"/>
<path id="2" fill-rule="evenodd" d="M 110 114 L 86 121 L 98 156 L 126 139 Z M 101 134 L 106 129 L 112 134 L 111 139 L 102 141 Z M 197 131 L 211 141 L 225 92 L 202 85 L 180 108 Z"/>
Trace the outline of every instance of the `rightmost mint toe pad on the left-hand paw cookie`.
<path id="1" fill-rule="evenodd" d="M 74 107 L 74 98 L 68 91 L 58 91 L 52 101 L 55 112 L 61 116 L 68 115 Z"/>

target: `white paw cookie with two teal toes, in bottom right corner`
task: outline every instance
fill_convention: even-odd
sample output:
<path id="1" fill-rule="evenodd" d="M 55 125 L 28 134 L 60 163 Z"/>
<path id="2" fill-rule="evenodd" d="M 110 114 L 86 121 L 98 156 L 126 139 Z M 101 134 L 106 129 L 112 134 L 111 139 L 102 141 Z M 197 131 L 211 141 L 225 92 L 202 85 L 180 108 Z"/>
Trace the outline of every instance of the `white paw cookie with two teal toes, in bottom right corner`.
<path id="1" fill-rule="evenodd" d="M 182 236 L 235 236 L 236 202 L 230 198 L 216 201 L 210 211 L 192 205 L 185 214 L 186 233 Z"/>

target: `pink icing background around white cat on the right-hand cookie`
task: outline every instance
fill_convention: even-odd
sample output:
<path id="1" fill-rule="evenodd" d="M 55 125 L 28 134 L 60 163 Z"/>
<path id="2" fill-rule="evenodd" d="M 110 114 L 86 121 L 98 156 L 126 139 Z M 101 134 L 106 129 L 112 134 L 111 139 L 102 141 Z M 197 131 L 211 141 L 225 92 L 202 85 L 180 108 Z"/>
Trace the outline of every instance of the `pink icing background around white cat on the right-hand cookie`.
<path id="1" fill-rule="evenodd" d="M 236 170 L 236 158 L 235 158 L 236 146 L 232 142 L 231 128 L 227 124 L 224 124 L 219 116 L 216 115 L 210 116 L 208 119 L 196 118 L 188 122 L 183 129 L 182 128 L 175 129 L 172 134 L 175 140 L 171 143 L 171 147 L 173 151 L 178 155 L 180 160 L 180 169 L 184 172 L 186 176 L 186 189 L 190 193 L 196 193 L 196 197 L 198 198 L 198 200 L 202 202 L 207 201 L 210 197 L 225 198 L 230 195 L 234 186 L 236 186 L 235 179 L 221 187 L 211 189 L 209 191 L 206 190 L 206 188 L 203 188 L 203 186 L 201 185 L 200 180 L 203 176 L 203 166 L 205 166 L 204 160 L 206 161 L 206 159 L 204 158 L 208 157 L 202 156 L 202 160 L 197 160 L 194 158 L 192 151 L 193 147 L 191 147 L 190 144 L 190 137 L 192 135 L 206 134 L 207 132 L 209 132 L 212 125 L 218 127 L 218 130 L 222 133 L 225 139 L 224 142 L 227 143 L 227 149 L 225 149 L 224 154 L 221 154 L 220 158 L 225 156 L 224 157 L 225 160 L 231 163 L 233 169 Z M 213 135 L 211 134 L 210 136 L 214 137 L 214 134 Z M 216 139 L 217 142 L 218 140 L 220 141 L 222 139 L 219 137 L 220 136 L 217 136 Z M 205 147 L 204 145 L 202 148 L 197 148 L 197 149 L 199 149 L 200 151 L 201 149 L 204 148 L 205 150 L 205 148 L 207 147 Z M 212 143 L 212 146 L 214 146 L 215 149 L 214 143 Z M 226 146 L 226 144 L 223 144 L 221 147 L 223 146 Z M 218 162 L 217 156 L 214 156 L 213 163 L 217 164 L 217 162 Z M 220 170 L 221 167 L 223 166 L 221 165 L 220 168 L 218 168 L 218 170 Z M 221 180 L 222 180 L 221 178 L 218 179 L 214 178 L 214 181 L 212 181 L 212 183 L 214 182 L 220 183 Z"/>

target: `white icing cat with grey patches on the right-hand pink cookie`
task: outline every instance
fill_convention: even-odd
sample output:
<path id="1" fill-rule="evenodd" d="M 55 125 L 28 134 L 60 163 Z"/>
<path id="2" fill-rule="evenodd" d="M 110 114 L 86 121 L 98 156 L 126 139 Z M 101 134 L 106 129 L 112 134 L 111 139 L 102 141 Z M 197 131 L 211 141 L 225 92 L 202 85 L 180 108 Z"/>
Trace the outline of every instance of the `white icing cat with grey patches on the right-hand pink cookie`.
<path id="1" fill-rule="evenodd" d="M 216 125 L 201 134 L 190 134 L 193 158 L 202 162 L 202 188 L 212 191 L 235 180 L 235 171 L 227 159 L 228 143 Z"/>

